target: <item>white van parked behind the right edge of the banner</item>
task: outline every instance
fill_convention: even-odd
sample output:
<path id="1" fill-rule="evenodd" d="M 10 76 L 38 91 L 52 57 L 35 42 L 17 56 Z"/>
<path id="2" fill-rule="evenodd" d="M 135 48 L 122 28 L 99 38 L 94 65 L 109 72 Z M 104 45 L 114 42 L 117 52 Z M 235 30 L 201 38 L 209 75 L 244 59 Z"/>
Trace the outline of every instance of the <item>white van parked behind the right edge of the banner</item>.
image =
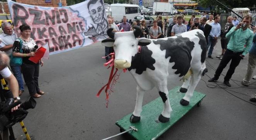
<path id="1" fill-rule="evenodd" d="M 139 15 L 139 5 L 134 4 L 111 4 L 112 17 L 115 22 L 121 22 L 123 16 L 129 20 L 133 20 L 134 17 Z"/>

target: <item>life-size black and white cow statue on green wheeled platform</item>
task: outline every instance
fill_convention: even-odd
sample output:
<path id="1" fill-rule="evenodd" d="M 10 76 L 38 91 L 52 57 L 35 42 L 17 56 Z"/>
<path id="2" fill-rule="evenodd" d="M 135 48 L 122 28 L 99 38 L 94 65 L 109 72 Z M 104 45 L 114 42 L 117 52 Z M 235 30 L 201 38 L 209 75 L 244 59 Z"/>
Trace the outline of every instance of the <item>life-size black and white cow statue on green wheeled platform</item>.
<path id="1" fill-rule="evenodd" d="M 136 30 L 130 32 L 112 32 L 113 28 L 110 28 L 107 33 L 112 39 L 105 39 L 102 44 L 114 46 L 115 67 L 127 68 L 137 83 L 136 105 L 130 121 L 139 122 L 143 95 L 146 90 L 156 87 L 164 103 L 158 119 L 168 122 L 172 109 L 168 99 L 167 78 L 180 80 L 185 77 L 180 91 L 186 94 L 180 103 L 188 105 L 201 75 L 207 71 L 205 37 L 201 30 L 192 30 L 161 39 L 136 38 L 141 34 L 141 29 L 138 26 L 134 28 Z"/>

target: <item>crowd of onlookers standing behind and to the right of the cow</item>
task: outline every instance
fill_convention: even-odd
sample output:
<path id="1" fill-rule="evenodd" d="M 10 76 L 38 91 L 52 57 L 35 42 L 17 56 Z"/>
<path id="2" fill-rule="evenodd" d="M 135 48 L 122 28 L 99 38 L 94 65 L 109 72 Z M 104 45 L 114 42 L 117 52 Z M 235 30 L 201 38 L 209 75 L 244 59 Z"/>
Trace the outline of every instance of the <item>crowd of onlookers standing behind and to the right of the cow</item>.
<path id="1" fill-rule="evenodd" d="M 141 25 L 139 21 L 133 22 L 130 25 L 127 22 L 126 17 L 123 17 L 122 23 L 119 25 L 114 24 L 114 19 L 109 16 L 109 27 L 114 28 L 115 32 L 127 32 L 134 30 L 133 26 L 138 25 L 142 29 L 140 37 L 158 39 L 163 38 L 163 28 L 164 23 L 162 21 L 161 15 L 158 15 L 157 19 L 153 21 L 152 27 L 146 26 L 146 21 L 142 20 Z M 208 48 L 208 58 L 213 59 L 212 52 L 214 47 L 220 38 L 221 44 L 221 54 L 216 56 L 221 61 L 215 72 L 213 78 L 209 79 L 209 82 L 214 82 L 219 79 L 222 70 L 231 61 L 229 70 L 224 77 L 224 84 L 231 87 L 229 80 L 231 79 L 236 67 L 239 65 L 241 59 L 249 52 L 248 57 L 248 68 L 244 79 L 242 80 L 242 85 L 248 86 L 250 84 L 250 79 L 256 79 L 256 75 L 253 76 L 253 70 L 256 66 L 256 27 L 252 27 L 250 24 L 252 22 L 252 17 L 246 15 L 242 18 L 240 22 L 237 17 L 228 17 L 225 23 L 224 29 L 220 26 L 220 16 L 208 15 L 203 13 L 201 18 L 196 18 L 192 15 L 188 22 L 185 21 L 183 15 L 173 16 L 168 20 L 169 28 L 167 32 L 167 37 L 175 36 L 179 33 L 189 32 L 191 30 L 199 29 L 202 30 L 207 42 Z M 118 27 L 118 29 L 117 29 Z M 111 49 L 111 50 L 110 50 Z M 106 47 L 105 56 L 109 53 L 114 52 L 113 48 Z M 109 58 L 106 57 L 108 61 Z M 256 94 L 255 94 L 256 97 Z M 250 99 L 252 102 L 256 102 L 256 98 Z"/>

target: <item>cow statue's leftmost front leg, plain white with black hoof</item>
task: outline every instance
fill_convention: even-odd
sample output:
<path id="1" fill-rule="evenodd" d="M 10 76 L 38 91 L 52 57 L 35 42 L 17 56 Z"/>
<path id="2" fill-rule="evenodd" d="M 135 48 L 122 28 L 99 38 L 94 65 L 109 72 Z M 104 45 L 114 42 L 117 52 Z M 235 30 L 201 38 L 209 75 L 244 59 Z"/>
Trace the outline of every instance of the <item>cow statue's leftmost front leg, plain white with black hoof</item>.
<path id="1" fill-rule="evenodd" d="M 134 108 L 134 111 L 130 117 L 130 122 L 136 123 L 141 120 L 141 112 L 142 112 L 142 101 L 143 101 L 143 96 L 144 96 L 145 90 L 142 90 L 138 85 L 137 85 L 137 97 L 136 97 L 136 105 Z"/>

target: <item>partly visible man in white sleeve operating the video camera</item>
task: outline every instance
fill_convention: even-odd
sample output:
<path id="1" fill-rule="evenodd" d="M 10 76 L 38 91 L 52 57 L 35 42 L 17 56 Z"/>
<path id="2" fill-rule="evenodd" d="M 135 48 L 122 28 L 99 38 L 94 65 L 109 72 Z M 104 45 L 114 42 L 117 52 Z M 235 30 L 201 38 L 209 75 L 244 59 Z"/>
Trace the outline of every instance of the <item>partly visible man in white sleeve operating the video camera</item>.
<path id="1" fill-rule="evenodd" d="M 14 95 L 14 102 L 17 102 L 17 100 L 20 100 L 19 97 L 19 85 L 14 77 L 14 75 L 11 73 L 7 65 L 9 65 L 10 59 L 6 53 L 0 51 L 0 74 L 2 75 L 5 80 L 10 85 L 10 90 L 12 91 L 12 94 Z M 11 109 L 11 112 L 18 109 L 20 105 L 14 107 Z"/>

